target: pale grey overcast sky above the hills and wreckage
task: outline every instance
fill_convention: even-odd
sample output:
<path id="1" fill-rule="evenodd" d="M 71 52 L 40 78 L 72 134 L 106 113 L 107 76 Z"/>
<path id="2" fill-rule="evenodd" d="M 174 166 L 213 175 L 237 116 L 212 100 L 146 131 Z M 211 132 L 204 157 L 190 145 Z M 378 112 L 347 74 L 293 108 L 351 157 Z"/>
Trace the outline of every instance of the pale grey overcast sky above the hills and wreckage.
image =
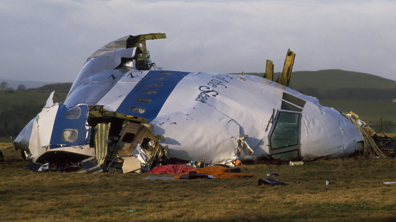
<path id="1" fill-rule="evenodd" d="M 396 1 L 0 0 L 0 79 L 73 82 L 86 58 L 125 35 L 163 69 L 343 69 L 396 80 Z"/>

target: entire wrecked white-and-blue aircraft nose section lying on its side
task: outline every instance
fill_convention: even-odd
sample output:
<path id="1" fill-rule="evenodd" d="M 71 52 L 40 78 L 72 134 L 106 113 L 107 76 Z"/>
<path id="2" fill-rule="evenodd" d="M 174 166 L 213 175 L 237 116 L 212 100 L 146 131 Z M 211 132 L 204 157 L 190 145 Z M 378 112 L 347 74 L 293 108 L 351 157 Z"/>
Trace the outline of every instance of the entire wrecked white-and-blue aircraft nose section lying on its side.
<path id="1" fill-rule="evenodd" d="M 52 93 L 14 146 L 35 163 L 89 160 L 130 172 L 169 158 L 332 158 L 364 145 L 349 118 L 287 87 L 290 50 L 275 81 L 270 60 L 265 78 L 155 70 L 146 40 L 164 38 L 129 35 L 97 50 L 64 103 Z"/>

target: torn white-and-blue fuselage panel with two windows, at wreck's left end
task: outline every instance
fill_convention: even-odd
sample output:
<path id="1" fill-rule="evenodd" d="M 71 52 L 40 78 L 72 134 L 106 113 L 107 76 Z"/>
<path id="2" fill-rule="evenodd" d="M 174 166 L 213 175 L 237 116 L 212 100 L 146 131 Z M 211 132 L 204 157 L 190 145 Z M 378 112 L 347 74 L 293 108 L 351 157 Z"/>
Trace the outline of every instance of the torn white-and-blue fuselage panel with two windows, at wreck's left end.
<path id="1" fill-rule="evenodd" d="M 47 101 L 42 112 L 26 125 L 13 144 L 33 162 L 78 160 L 79 155 L 85 159 L 94 154 L 82 148 L 90 137 L 87 118 L 86 104 L 67 107 Z"/>

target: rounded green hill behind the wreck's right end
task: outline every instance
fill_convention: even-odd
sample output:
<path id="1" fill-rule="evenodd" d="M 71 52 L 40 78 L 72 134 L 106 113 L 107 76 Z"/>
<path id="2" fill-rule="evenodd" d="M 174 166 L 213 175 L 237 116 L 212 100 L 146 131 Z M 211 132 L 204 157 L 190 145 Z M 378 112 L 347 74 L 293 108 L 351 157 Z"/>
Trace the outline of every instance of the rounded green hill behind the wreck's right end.
<path id="1" fill-rule="evenodd" d="M 263 76 L 264 73 L 246 73 Z M 279 73 L 274 73 L 278 77 Z M 290 88 L 319 99 L 357 99 L 392 101 L 396 99 L 396 81 L 367 73 L 327 69 L 294 71 Z"/>

